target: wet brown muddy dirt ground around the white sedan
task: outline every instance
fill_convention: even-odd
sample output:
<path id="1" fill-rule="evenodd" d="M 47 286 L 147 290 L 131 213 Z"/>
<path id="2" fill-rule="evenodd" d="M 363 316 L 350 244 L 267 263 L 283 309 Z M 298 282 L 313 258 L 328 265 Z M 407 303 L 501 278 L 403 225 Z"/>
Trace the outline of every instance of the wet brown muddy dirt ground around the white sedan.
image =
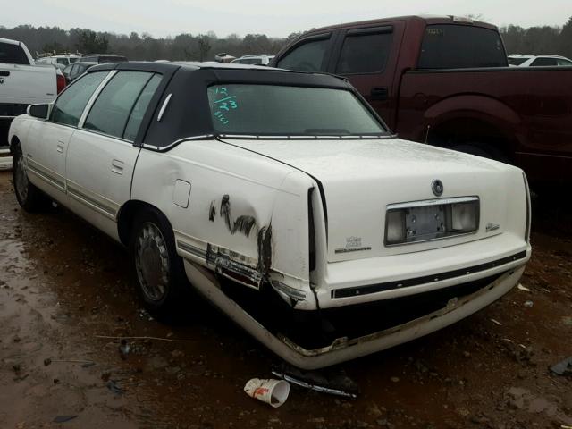
<path id="1" fill-rule="evenodd" d="M 547 208 L 545 206 L 550 206 Z M 572 380 L 572 215 L 536 202 L 522 285 L 466 320 L 341 366 L 357 400 L 242 391 L 279 363 L 205 303 L 160 324 L 125 251 L 62 208 L 27 214 L 0 172 L 0 428 L 561 428 Z M 532 302 L 532 307 L 530 303 Z M 129 354 L 120 341 L 130 339 Z"/>

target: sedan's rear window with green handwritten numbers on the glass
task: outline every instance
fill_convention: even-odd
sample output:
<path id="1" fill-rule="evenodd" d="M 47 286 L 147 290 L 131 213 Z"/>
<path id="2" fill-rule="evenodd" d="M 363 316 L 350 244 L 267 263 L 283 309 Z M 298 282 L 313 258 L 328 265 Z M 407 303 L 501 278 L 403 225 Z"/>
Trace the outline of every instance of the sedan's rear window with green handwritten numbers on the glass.
<path id="1" fill-rule="evenodd" d="M 383 125 L 350 91 L 228 84 L 207 89 L 214 130 L 248 135 L 371 135 Z"/>

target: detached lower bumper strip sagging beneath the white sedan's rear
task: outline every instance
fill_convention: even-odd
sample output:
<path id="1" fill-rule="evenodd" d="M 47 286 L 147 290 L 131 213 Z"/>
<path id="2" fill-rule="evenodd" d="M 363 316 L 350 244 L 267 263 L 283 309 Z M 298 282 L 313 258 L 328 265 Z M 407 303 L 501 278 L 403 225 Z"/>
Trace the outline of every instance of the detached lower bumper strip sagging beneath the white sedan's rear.
<path id="1" fill-rule="evenodd" d="M 331 345 L 319 349 L 305 349 L 278 333 L 269 332 L 265 326 L 226 296 L 214 275 L 205 268 L 185 261 L 185 270 L 193 285 L 206 299 L 213 302 L 234 322 L 291 365 L 309 370 L 364 357 L 454 324 L 490 305 L 511 290 L 524 272 L 525 265 L 509 269 L 506 273 L 500 274 L 500 277 L 496 277 L 496 280 L 469 295 L 449 299 L 444 307 L 429 314 L 379 332 L 351 339 L 342 337 L 333 341 Z"/>

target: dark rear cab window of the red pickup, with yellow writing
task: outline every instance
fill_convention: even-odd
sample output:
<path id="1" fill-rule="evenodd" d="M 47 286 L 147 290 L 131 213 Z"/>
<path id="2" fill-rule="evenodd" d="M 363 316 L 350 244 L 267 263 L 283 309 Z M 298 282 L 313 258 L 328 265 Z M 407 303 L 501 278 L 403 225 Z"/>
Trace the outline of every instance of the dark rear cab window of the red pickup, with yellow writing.
<path id="1" fill-rule="evenodd" d="M 454 24 L 425 28 L 418 69 L 507 66 L 501 35 L 493 29 Z"/>

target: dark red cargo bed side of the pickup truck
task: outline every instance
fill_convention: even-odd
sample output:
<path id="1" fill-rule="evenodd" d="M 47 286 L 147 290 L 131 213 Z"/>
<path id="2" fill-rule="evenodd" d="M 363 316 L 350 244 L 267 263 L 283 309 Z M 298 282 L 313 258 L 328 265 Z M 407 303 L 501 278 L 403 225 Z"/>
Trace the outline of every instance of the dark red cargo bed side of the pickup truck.
<path id="1" fill-rule="evenodd" d="M 530 181 L 570 181 L 572 68 L 407 71 L 394 129 L 437 146 L 484 143 Z"/>

